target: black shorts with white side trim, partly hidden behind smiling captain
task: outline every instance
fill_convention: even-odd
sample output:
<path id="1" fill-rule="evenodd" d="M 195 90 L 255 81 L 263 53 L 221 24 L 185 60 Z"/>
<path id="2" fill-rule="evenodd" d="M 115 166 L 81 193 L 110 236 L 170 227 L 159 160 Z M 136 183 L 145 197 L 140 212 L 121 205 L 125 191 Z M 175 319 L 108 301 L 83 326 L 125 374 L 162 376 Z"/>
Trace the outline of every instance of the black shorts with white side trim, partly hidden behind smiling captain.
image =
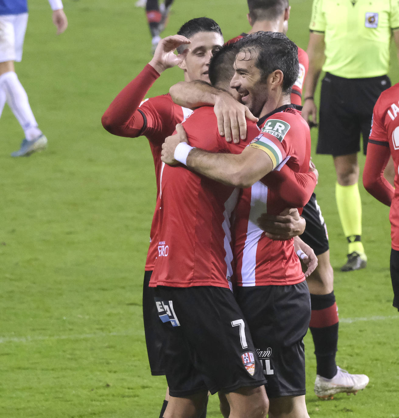
<path id="1" fill-rule="evenodd" d="M 316 255 L 326 252 L 329 248 L 327 227 L 314 193 L 304 206 L 302 217 L 306 221 L 306 227 L 301 239 L 312 248 Z"/>

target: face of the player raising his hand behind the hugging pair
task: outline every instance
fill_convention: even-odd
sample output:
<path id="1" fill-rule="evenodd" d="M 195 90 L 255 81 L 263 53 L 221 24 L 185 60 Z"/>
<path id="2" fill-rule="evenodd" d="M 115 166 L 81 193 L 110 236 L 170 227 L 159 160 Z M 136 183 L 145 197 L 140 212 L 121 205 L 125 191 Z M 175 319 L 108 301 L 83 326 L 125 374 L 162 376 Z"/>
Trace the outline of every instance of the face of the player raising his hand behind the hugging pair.
<path id="1" fill-rule="evenodd" d="M 212 55 L 223 45 L 223 36 L 217 32 L 198 32 L 183 52 L 179 67 L 184 70 L 184 81 L 202 80 L 209 83 L 208 69 Z"/>

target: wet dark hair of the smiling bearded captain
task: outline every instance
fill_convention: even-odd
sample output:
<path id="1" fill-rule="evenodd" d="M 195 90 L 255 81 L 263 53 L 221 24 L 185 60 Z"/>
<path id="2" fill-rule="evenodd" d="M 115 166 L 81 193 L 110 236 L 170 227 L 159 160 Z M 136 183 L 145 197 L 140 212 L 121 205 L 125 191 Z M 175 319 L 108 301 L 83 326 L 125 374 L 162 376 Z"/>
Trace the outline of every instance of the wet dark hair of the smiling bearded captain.
<path id="1" fill-rule="evenodd" d="M 299 73 L 298 47 L 281 32 L 255 32 L 239 39 L 237 47 L 249 61 L 255 58 L 263 80 L 273 71 L 281 70 L 284 75 L 283 92 L 291 92 Z"/>

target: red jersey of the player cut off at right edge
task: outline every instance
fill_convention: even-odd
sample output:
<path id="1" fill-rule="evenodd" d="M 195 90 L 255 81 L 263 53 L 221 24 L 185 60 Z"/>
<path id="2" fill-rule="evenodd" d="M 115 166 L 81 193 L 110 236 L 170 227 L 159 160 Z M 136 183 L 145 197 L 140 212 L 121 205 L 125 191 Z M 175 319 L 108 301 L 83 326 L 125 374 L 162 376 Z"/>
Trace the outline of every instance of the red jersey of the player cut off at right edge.
<path id="1" fill-rule="evenodd" d="M 391 222 L 391 240 L 392 248 L 399 251 L 399 83 L 390 87 L 381 93 L 373 110 L 373 122 L 369 138 L 369 145 L 378 144 L 389 147 L 394 160 L 395 178 L 394 178 L 394 196 L 391 201 L 391 209 L 389 211 L 389 221 Z M 367 148 L 367 160 L 372 158 L 369 155 L 372 148 Z M 380 163 L 377 161 L 376 163 Z M 381 162 L 381 165 L 383 163 Z M 379 170 L 379 176 L 382 176 L 383 167 Z M 363 176 L 367 176 L 364 173 Z M 382 181 L 380 185 L 383 186 Z M 386 185 L 387 194 L 391 193 L 391 186 Z"/>

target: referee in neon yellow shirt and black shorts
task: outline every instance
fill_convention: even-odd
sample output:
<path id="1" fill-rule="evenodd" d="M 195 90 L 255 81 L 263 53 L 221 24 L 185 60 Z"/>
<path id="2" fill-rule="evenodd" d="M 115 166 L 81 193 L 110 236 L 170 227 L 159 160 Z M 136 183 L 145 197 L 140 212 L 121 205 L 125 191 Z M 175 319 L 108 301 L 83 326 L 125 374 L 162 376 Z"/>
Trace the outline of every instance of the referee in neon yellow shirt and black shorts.
<path id="1" fill-rule="evenodd" d="M 307 47 L 309 71 L 305 80 L 302 116 L 317 122 L 314 94 L 322 80 L 318 154 L 333 155 L 335 197 L 349 243 L 342 271 L 366 267 L 361 242 L 361 200 L 358 189 L 360 133 L 366 153 L 373 106 L 390 87 L 386 75 L 389 44 L 399 49 L 399 6 L 396 0 L 314 0 Z"/>

